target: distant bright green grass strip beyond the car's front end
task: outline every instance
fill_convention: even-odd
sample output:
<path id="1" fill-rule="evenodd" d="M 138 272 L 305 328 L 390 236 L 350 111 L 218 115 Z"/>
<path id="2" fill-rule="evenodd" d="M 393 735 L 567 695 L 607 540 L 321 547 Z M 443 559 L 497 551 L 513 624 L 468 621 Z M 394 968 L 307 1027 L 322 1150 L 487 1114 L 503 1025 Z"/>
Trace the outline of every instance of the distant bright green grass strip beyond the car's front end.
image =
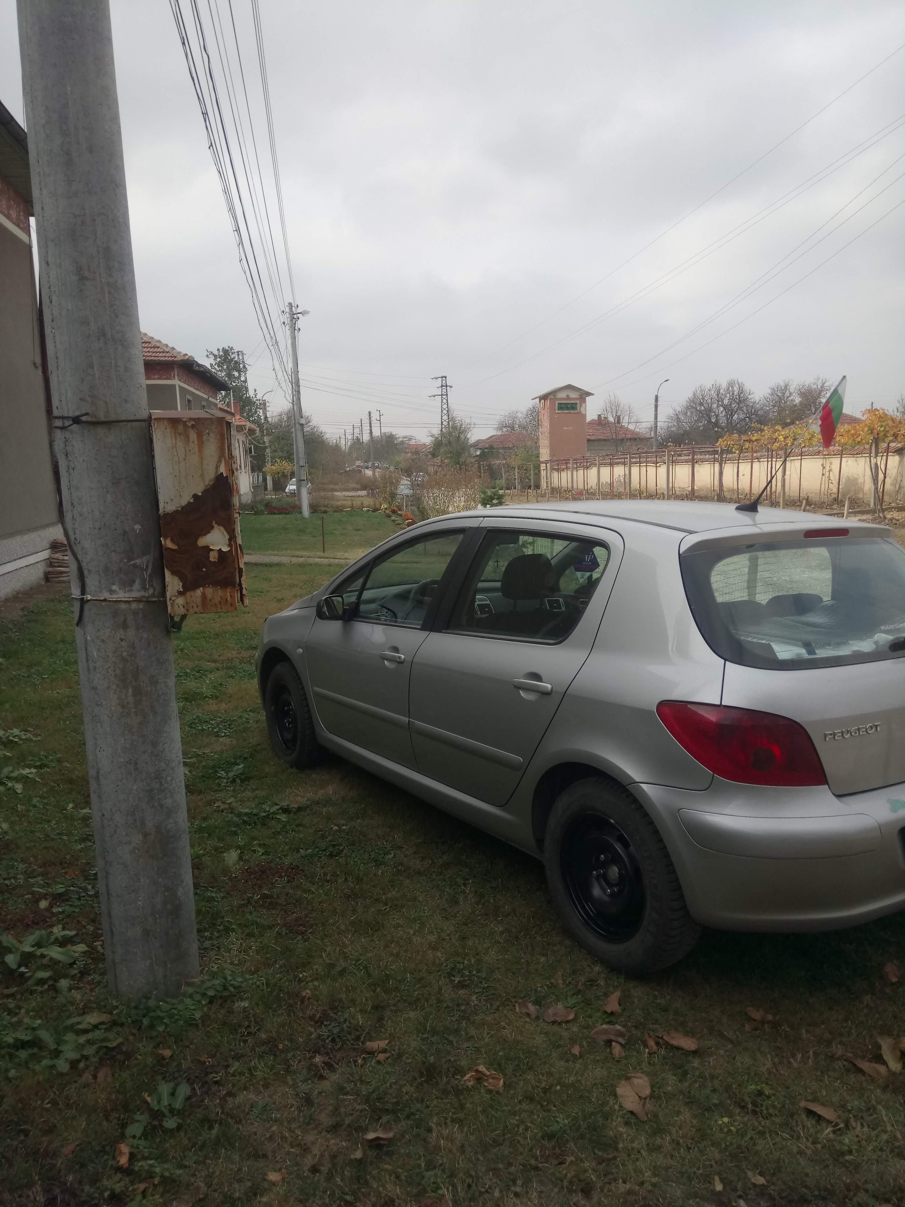
<path id="1" fill-rule="evenodd" d="M 386 541 L 398 527 L 380 512 L 328 512 L 304 520 L 287 515 L 243 515 L 243 548 L 246 553 L 275 553 L 288 556 L 323 556 L 321 520 L 327 556 L 351 561 Z"/>

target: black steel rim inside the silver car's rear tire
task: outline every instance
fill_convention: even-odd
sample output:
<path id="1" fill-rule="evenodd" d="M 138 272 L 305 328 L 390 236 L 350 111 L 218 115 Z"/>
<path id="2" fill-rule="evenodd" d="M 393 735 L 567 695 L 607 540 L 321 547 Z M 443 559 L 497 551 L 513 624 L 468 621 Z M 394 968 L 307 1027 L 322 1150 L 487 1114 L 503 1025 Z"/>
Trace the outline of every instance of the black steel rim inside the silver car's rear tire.
<path id="1" fill-rule="evenodd" d="M 644 916 L 644 877 L 635 849 L 607 817 L 585 814 L 560 844 L 562 884 L 585 926 L 611 943 L 637 934 Z"/>

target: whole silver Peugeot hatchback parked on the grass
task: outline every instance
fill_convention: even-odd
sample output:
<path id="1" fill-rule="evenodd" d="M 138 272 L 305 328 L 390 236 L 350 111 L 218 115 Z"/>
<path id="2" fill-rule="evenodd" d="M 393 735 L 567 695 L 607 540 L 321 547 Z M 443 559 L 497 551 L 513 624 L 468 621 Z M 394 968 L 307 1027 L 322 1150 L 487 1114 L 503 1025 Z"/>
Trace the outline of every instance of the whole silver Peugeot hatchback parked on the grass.
<path id="1" fill-rule="evenodd" d="M 272 616 L 258 682 L 280 759 L 333 751 L 542 858 L 614 968 L 702 926 L 905 906 L 905 550 L 881 525 L 653 501 L 428 520 Z"/>

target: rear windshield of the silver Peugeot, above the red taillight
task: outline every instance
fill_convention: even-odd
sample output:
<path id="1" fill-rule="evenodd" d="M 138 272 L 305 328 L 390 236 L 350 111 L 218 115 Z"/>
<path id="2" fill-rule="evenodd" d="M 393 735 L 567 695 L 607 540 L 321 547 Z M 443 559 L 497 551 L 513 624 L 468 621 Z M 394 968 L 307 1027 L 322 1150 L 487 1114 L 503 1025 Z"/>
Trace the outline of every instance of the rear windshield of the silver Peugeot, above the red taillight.
<path id="1" fill-rule="evenodd" d="M 801 670 L 905 657 L 905 550 L 874 537 L 683 554 L 697 628 L 720 658 Z"/>

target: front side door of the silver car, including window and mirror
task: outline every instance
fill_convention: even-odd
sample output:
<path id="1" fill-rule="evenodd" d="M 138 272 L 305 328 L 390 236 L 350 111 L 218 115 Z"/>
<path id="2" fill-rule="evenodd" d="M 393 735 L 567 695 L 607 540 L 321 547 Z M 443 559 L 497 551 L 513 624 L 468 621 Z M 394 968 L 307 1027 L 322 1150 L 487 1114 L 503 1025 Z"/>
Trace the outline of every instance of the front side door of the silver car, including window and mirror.
<path id="1" fill-rule="evenodd" d="M 344 619 L 315 619 L 305 663 L 317 717 L 334 737 L 414 768 L 411 660 L 427 636 L 466 527 L 396 546 L 344 583 Z"/>

